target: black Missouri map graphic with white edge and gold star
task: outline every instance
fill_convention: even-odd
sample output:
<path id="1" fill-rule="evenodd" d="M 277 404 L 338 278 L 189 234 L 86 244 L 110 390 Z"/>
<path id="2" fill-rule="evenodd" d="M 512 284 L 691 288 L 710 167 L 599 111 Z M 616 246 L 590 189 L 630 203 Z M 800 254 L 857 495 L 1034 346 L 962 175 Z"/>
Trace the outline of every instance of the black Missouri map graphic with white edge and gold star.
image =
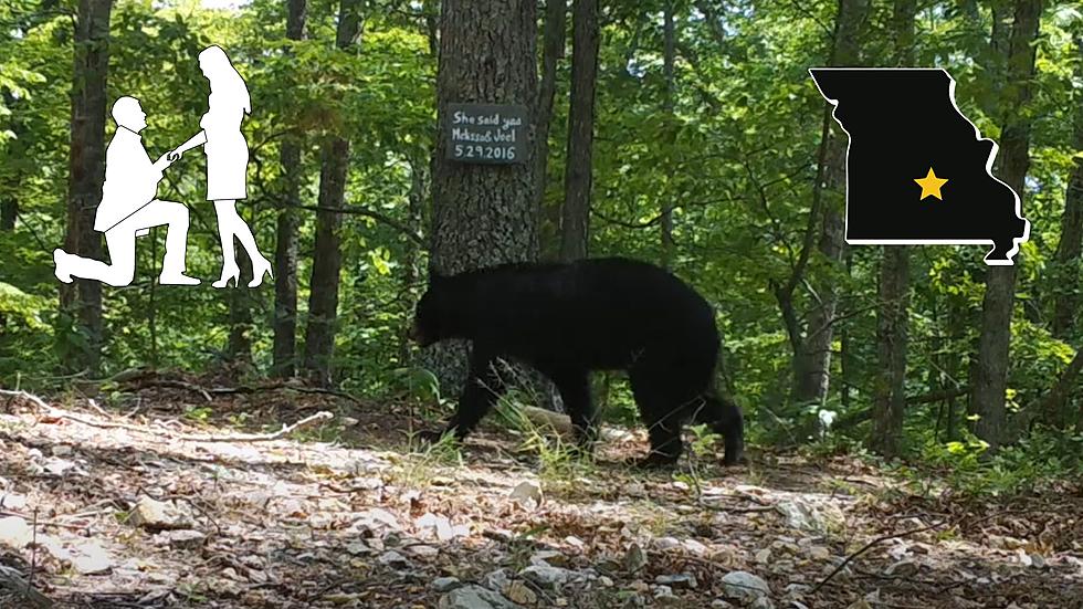
<path id="1" fill-rule="evenodd" d="M 939 67 L 813 67 L 820 94 L 849 137 L 847 243 L 992 244 L 1011 265 L 1030 222 L 1019 195 L 992 175 L 999 147 L 982 138 Z"/>

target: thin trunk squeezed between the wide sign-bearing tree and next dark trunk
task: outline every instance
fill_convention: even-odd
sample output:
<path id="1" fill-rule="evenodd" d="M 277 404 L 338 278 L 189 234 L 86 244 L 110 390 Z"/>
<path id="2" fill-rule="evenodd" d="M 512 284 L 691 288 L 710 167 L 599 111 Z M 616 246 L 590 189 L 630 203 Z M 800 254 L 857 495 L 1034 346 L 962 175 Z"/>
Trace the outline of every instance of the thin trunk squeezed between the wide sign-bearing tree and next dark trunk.
<path id="1" fill-rule="evenodd" d="M 597 1 L 597 0 L 596 0 Z M 564 57 L 565 21 L 567 0 L 546 0 L 545 4 L 545 41 L 542 49 L 542 82 L 538 86 L 538 102 L 535 109 L 537 116 L 537 153 L 535 157 L 535 206 L 540 218 L 545 209 L 545 187 L 548 183 L 549 169 L 549 130 L 553 123 L 553 99 L 557 91 L 557 63 Z"/>

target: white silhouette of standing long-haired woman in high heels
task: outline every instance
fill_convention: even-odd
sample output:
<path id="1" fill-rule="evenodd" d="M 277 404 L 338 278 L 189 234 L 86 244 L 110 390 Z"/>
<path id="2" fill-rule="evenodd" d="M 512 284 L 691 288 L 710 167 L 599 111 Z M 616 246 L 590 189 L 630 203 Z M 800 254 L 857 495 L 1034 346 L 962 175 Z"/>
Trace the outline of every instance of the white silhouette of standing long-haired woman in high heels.
<path id="1" fill-rule="evenodd" d="M 241 134 L 241 120 L 252 112 L 252 102 L 244 81 L 230 63 L 220 46 L 208 46 L 199 53 L 199 69 L 210 81 L 211 94 L 207 114 L 199 122 L 200 132 L 168 155 L 169 160 L 180 158 L 187 150 L 203 147 L 207 155 L 207 200 L 214 201 L 218 232 L 222 240 L 222 279 L 214 287 L 225 287 L 230 280 L 236 286 L 241 274 L 236 266 L 233 238 L 252 260 L 252 281 L 249 287 L 263 283 L 263 274 L 271 274 L 271 263 L 260 253 L 252 230 L 236 213 L 236 200 L 245 197 L 245 169 L 249 147 Z"/>

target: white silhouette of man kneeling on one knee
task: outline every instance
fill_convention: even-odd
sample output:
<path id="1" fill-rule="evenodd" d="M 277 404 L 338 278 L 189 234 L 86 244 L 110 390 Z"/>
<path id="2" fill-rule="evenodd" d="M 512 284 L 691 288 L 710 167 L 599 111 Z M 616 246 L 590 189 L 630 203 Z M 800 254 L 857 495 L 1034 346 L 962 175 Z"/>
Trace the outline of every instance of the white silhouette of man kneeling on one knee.
<path id="1" fill-rule="evenodd" d="M 128 285 L 135 277 L 136 238 L 147 234 L 151 227 L 166 225 L 166 255 L 159 283 L 198 285 L 198 279 L 185 274 L 188 208 L 155 198 L 161 172 L 171 162 L 166 155 L 151 162 L 143 147 L 139 132 L 147 126 L 146 113 L 135 97 L 120 97 L 113 104 L 113 119 L 117 129 L 105 153 L 102 204 L 94 217 L 94 230 L 105 233 L 112 263 L 56 249 L 53 250 L 56 279 L 64 283 L 83 277 L 115 286 Z"/>

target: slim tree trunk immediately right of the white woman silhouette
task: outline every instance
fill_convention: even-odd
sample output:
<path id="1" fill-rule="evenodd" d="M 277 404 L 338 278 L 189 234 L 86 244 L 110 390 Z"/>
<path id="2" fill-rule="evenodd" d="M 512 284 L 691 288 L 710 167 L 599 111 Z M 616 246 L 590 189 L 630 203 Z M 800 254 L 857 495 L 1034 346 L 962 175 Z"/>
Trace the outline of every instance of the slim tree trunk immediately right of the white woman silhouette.
<path id="1" fill-rule="evenodd" d="M 307 0 L 287 0 L 286 38 L 305 39 Z M 274 346 L 271 375 L 292 377 L 297 364 L 297 209 L 301 206 L 301 148 L 304 137 L 296 128 L 282 140 L 278 159 L 282 165 L 282 200 L 278 210 L 277 238 L 274 246 Z"/>

